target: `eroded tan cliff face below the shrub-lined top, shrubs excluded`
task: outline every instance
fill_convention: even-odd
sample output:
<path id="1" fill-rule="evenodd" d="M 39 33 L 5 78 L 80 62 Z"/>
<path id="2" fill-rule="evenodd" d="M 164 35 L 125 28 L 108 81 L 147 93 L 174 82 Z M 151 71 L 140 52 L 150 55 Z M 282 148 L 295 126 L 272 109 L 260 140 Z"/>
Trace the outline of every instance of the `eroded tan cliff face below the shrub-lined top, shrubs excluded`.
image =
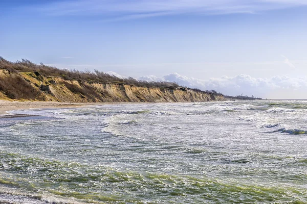
<path id="1" fill-rule="evenodd" d="M 0 99 L 60 102 L 202 102 L 226 100 L 222 95 L 182 89 L 97 84 L 43 77 L 38 72 L 0 70 Z"/>

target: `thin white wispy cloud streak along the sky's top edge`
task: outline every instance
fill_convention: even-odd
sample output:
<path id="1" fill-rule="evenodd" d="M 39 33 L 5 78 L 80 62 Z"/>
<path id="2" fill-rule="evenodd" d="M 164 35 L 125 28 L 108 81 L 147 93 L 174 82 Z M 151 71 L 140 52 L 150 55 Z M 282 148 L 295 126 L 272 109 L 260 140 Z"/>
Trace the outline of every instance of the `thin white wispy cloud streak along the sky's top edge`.
<path id="1" fill-rule="evenodd" d="M 47 15 L 99 15 L 104 19 L 135 19 L 176 14 L 218 15 L 258 13 L 307 5 L 305 0 L 76 0 L 34 8 Z"/>

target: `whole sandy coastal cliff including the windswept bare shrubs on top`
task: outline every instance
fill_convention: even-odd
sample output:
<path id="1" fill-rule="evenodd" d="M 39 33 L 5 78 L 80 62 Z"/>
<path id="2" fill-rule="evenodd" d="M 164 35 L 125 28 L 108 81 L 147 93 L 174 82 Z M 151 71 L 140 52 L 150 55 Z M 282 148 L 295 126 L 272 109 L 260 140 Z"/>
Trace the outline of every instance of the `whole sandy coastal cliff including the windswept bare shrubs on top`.
<path id="1" fill-rule="evenodd" d="M 216 91 L 180 87 L 174 82 L 121 79 L 98 70 L 58 69 L 29 60 L 0 57 L 0 98 L 63 102 L 192 102 L 225 100 Z"/>

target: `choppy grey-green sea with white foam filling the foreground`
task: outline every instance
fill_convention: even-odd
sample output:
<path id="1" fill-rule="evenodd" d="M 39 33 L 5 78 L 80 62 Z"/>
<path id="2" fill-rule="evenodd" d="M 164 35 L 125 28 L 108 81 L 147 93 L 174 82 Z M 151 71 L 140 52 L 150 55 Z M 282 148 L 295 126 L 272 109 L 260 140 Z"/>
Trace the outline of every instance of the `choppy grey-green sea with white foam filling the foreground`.
<path id="1" fill-rule="evenodd" d="M 305 100 L 10 113 L 0 203 L 307 203 Z"/>

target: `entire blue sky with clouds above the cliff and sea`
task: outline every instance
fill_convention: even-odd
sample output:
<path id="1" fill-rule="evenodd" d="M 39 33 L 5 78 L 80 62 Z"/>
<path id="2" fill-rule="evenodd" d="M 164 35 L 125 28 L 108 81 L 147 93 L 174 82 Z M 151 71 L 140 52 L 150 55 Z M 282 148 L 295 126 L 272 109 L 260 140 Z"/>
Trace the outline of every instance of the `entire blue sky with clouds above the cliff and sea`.
<path id="1" fill-rule="evenodd" d="M 2 0 L 0 56 L 307 98 L 307 0 Z"/>

